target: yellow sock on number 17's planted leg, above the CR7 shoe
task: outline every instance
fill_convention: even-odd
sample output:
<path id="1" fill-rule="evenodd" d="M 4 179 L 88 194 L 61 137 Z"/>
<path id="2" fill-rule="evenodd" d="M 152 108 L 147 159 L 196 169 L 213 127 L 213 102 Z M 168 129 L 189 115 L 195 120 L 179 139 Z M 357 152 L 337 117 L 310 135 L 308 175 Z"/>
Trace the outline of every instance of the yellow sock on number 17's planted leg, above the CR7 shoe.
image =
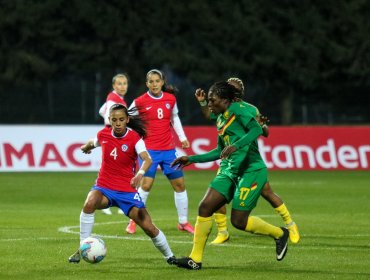
<path id="1" fill-rule="evenodd" d="M 195 262 L 202 262 L 204 246 L 206 245 L 207 238 L 211 232 L 213 218 L 211 217 L 197 217 L 194 230 L 193 249 L 190 258 Z"/>

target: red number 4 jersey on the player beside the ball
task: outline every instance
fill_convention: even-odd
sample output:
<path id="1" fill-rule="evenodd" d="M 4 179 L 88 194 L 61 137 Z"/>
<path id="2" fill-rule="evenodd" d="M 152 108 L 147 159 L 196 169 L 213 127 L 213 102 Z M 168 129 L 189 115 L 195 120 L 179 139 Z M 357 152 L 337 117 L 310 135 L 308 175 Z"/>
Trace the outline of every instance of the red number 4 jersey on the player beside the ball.
<path id="1" fill-rule="evenodd" d="M 130 128 L 122 137 L 113 136 L 111 127 L 100 130 L 97 140 L 102 148 L 102 164 L 96 185 L 121 192 L 136 192 L 130 181 L 135 176 L 135 145 L 140 135 Z"/>

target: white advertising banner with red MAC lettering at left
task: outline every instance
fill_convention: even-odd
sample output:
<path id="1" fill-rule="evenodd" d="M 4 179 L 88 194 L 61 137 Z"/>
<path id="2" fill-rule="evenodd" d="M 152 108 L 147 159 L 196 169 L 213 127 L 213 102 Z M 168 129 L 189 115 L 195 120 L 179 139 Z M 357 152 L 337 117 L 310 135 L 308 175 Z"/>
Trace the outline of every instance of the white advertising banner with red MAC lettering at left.
<path id="1" fill-rule="evenodd" d="M 81 145 L 102 126 L 0 125 L 0 171 L 97 171 L 101 150 Z"/>

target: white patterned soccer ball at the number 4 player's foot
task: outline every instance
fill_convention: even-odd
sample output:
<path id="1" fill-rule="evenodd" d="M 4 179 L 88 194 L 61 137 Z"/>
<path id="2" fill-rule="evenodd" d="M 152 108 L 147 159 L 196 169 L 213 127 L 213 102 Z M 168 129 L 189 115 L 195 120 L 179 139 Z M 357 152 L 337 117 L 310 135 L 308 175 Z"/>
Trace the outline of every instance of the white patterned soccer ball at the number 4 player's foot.
<path id="1" fill-rule="evenodd" d="M 88 237 L 81 242 L 81 257 L 88 263 L 101 262 L 107 254 L 107 247 L 102 239 Z"/>

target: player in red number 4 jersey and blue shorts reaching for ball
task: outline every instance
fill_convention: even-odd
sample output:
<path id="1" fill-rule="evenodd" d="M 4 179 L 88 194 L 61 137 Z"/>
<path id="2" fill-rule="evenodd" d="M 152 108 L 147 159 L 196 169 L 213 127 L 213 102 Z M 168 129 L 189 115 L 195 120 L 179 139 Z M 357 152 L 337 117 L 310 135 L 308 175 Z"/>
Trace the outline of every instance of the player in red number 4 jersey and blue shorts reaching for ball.
<path id="1" fill-rule="evenodd" d="M 91 235 L 95 210 L 115 206 L 144 230 L 169 264 L 175 264 L 176 258 L 165 235 L 153 224 L 136 189 L 152 164 L 142 139 L 146 135 L 144 122 L 139 116 L 131 116 L 122 104 L 111 107 L 109 120 L 111 127 L 103 128 L 95 139 L 81 146 L 86 154 L 101 147 L 102 165 L 80 214 L 80 242 Z M 138 156 L 141 165 L 135 173 Z M 80 259 L 77 250 L 69 257 L 69 262 L 79 263 Z"/>

